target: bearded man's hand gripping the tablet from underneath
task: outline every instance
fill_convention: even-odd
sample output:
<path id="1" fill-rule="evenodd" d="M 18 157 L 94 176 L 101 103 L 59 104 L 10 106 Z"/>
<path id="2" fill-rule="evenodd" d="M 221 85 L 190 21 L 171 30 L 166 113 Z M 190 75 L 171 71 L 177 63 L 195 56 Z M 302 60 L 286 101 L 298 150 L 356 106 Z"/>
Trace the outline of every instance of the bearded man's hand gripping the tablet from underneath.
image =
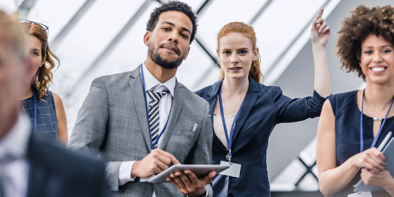
<path id="1" fill-rule="evenodd" d="M 183 173 L 177 171 L 176 173 L 171 173 L 167 181 L 175 185 L 186 196 L 203 196 L 205 194 L 205 185 L 212 182 L 215 174 L 216 171 L 210 171 L 207 176 L 197 178 L 192 171 L 185 170 Z"/>

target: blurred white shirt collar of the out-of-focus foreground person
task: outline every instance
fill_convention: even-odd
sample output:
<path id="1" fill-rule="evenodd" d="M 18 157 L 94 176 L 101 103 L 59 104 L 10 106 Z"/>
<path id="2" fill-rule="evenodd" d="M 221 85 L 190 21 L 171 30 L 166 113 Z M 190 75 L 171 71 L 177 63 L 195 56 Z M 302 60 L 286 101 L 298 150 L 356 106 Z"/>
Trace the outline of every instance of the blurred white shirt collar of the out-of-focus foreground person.
<path id="1" fill-rule="evenodd" d="M 30 135 L 30 121 L 25 115 L 19 115 L 18 121 L 0 140 L 1 149 L 16 158 L 24 158 L 24 156 L 26 156 Z"/>

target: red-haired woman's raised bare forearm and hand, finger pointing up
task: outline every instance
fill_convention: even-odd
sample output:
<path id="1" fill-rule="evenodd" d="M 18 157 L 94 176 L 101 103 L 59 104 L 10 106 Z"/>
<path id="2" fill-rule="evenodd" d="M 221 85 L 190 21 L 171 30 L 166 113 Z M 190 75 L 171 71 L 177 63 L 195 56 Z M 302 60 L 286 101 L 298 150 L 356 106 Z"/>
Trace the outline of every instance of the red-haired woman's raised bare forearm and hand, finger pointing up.
<path id="1" fill-rule="evenodd" d="M 322 97 L 331 94 L 330 75 L 328 74 L 326 44 L 330 37 L 331 30 L 321 18 L 323 9 L 315 21 L 312 22 L 310 39 L 312 40 L 313 59 L 315 61 L 315 91 Z"/>

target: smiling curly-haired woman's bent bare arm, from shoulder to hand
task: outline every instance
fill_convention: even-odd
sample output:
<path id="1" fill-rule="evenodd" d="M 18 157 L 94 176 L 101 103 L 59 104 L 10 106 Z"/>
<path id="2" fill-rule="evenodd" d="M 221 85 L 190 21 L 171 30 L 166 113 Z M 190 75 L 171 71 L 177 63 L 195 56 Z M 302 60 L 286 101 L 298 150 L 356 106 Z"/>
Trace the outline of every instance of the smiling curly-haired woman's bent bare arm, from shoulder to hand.
<path id="1" fill-rule="evenodd" d="M 319 188 L 324 196 L 331 196 L 344 189 L 360 168 L 378 172 L 384 170 L 386 165 L 383 154 L 372 148 L 352 156 L 337 167 L 335 115 L 330 100 L 324 102 L 317 126 L 316 162 Z"/>

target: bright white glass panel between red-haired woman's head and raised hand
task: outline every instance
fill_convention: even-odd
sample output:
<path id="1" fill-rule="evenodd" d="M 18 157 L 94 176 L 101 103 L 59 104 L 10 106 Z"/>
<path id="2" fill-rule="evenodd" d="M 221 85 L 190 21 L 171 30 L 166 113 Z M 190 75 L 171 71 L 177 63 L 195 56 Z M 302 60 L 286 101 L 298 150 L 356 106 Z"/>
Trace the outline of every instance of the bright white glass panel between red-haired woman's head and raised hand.
<path id="1" fill-rule="evenodd" d="M 253 25 L 265 74 L 326 0 L 272 1 Z M 285 6 L 283 6 L 285 5 Z"/>

